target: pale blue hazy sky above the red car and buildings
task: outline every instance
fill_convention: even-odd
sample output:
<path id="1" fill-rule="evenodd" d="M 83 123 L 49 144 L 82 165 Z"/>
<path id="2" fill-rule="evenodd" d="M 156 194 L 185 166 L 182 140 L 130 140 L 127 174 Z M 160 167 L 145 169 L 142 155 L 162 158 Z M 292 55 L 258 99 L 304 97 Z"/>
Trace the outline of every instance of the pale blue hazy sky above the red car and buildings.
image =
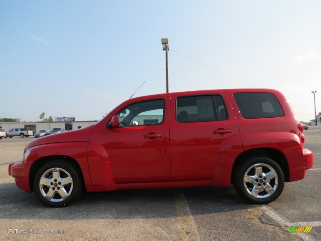
<path id="1" fill-rule="evenodd" d="M 319 0 L 0 0 L 0 118 L 100 120 L 134 97 L 272 88 L 321 112 Z"/>

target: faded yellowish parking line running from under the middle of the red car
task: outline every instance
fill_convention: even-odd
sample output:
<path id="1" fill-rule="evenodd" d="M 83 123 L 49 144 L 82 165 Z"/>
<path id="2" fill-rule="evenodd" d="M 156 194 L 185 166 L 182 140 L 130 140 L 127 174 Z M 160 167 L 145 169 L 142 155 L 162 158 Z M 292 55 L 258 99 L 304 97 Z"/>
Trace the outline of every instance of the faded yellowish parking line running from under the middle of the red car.
<path id="1" fill-rule="evenodd" d="M 183 190 L 181 188 L 173 189 L 174 201 L 177 210 L 178 224 L 181 240 L 200 241 L 200 237 L 195 227 L 191 210 L 188 207 Z"/>

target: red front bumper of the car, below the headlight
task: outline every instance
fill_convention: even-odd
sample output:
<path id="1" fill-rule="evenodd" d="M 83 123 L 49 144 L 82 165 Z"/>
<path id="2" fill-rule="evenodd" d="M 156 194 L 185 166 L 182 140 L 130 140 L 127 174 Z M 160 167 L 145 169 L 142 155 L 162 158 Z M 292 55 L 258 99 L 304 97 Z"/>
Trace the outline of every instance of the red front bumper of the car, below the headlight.
<path id="1" fill-rule="evenodd" d="M 29 186 L 29 170 L 25 169 L 22 162 L 13 162 L 9 164 L 9 175 L 14 177 L 16 185 L 19 189 L 30 192 Z"/>

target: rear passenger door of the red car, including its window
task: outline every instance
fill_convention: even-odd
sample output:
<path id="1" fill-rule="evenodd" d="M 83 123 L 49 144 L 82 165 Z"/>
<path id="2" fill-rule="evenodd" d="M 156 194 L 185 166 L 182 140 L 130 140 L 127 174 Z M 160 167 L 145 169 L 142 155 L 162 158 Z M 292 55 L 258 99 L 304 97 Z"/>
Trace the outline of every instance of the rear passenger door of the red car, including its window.
<path id="1" fill-rule="evenodd" d="M 198 95 L 171 94 L 172 181 L 228 180 L 225 157 L 242 148 L 238 123 L 225 90 Z M 220 177 L 219 177 L 220 176 Z"/>

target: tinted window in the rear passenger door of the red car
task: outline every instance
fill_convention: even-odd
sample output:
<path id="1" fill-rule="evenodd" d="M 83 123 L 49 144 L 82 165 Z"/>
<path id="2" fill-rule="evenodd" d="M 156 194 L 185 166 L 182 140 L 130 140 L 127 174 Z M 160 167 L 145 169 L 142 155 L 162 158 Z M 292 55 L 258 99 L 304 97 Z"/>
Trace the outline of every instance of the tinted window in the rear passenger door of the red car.
<path id="1" fill-rule="evenodd" d="M 176 101 L 178 122 L 226 120 L 227 113 L 220 95 L 179 97 Z"/>

